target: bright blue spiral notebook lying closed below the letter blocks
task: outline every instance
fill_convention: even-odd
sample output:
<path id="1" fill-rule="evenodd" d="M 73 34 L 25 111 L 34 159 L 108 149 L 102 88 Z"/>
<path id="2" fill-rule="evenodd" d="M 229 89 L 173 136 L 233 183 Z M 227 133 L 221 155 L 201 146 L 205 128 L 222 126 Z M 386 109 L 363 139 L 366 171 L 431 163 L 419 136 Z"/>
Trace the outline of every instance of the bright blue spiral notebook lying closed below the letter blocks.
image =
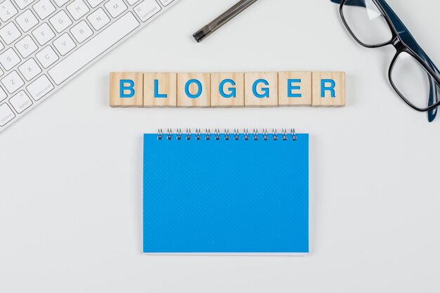
<path id="1" fill-rule="evenodd" d="M 143 252 L 309 253 L 309 135 L 145 134 Z"/>

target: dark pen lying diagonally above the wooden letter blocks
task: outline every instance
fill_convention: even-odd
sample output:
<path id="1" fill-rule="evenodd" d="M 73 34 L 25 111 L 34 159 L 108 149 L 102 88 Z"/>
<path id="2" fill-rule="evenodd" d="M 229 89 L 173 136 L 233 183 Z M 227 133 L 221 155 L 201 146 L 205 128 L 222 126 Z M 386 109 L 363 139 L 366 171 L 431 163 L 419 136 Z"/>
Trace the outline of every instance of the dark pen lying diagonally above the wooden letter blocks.
<path id="1" fill-rule="evenodd" d="M 218 18 L 209 22 L 209 24 L 202 27 L 201 30 L 193 34 L 193 37 L 198 43 L 203 41 L 209 34 L 212 34 L 223 26 L 229 20 L 235 18 L 240 12 L 244 11 L 247 7 L 254 4 L 257 0 L 241 0 L 231 8 L 229 8 L 225 13 L 221 14 Z"/>

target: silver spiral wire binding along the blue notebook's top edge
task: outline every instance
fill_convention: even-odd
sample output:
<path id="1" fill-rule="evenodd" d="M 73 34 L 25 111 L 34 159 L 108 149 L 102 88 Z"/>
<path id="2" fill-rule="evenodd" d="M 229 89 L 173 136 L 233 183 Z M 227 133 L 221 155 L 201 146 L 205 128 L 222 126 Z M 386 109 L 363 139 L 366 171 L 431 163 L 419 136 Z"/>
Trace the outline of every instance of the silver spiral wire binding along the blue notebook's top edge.
<path id="1" fill-rule="evenodd" d="M 176 130 L 176 139 L 178 141 L 182 140 L 182 129 L 177 129 Z M 200 129 L 195 129 L 195 133 L 191 132 L 191 129 L 186 129 L 186 133 L 183 135 L 183 137 L 186 139 L 186 141 L 190 141 L 191 140 L 191 136 L 195 135 L 195 139 L 197 141 L 201 141 L 203 134 L 202 131 Z M 211 139 L 211 129 L 205 129 L 205 140 L 209 141 Z M 225 129 L 224 131 L 224 140 L 225 141 L 230 141 L 231 140 L 231 136 L 233 138 L 234 141 L 239 141 L 240 140 L 240 129 L 233 129 L 233 133 L 230 134 L 229 129 Z M 258 141 L 259 138 L 262 136 L 264 141 L 268 141 L 270 138 L 270 135 L 267 131 L 267 129 L 263 129 L 261 132 L 258 131 L 258 129 L 253 129 L 252 134 L 249 133 L 248 129 L 243 129 L 242 135 L 244 137 L 245 141 L 250 141 L 251 138 L 253 138 L 254 141 Z M 167 129 L 167 132 L 164 134 L 164 131 L 162 129 L 158 129 L 157 130 L 157 140 L 158 141 L 162 141 L 164 136 L 167 137 L 167 141 L 171 141 L 173 138 L 173 131 L 172 129 Z M 221 140 L 221 133 L 220 133 L 220 129 L 214 129 L 214 139 L 216 141 L 220 141 Z M 278 136 L 281 136 L 281 138 L 283 139 L 283 141 L 288 141 L 289 140 L 289 135 L 287 134 L 287 129 L 282 129 L 281 133 L 278 133 L 277 129 L 272 129 L 272 137 L 271 139 L 273 141 L 278 141 L 279 138 Z M 295 132 L 295 129 L 290 129 L 290 136 L 292 136 L 292 141 L 297 141 L 297 134 Z"/>

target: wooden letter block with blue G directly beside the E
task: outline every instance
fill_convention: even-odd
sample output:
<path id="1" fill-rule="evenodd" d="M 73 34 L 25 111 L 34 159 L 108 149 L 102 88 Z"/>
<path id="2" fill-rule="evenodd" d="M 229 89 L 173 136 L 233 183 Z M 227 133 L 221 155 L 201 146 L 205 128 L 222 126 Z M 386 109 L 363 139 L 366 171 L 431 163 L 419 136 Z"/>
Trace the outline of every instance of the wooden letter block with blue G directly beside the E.
<path id="1" fill-rule="evenodd" d="M 245 107 L 278 106 L 278 72 L 245 73 Z"/>

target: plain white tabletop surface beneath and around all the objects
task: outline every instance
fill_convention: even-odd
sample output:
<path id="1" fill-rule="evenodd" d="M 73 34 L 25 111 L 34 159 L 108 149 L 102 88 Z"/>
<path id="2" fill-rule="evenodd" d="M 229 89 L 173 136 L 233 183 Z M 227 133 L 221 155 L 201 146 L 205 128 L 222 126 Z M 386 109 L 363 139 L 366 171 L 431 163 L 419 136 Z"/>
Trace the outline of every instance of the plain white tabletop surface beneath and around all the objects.
<path id="1" fill-rule="evenodd" d="M 181 0 L 0 136 L 0 292 L 440 292 L 440 120 L 386 78 L 394 49 L 330 1 Z M 440 3 L 389 0 L 440 64 Z M 435 37 L 434 37 L 435 36 Z M 110 71 L 344 70 L 347 108 L 112 109 Z M 143 256 L 142 134 L 295 126 L 311 134 L 311 254 Z"/>

